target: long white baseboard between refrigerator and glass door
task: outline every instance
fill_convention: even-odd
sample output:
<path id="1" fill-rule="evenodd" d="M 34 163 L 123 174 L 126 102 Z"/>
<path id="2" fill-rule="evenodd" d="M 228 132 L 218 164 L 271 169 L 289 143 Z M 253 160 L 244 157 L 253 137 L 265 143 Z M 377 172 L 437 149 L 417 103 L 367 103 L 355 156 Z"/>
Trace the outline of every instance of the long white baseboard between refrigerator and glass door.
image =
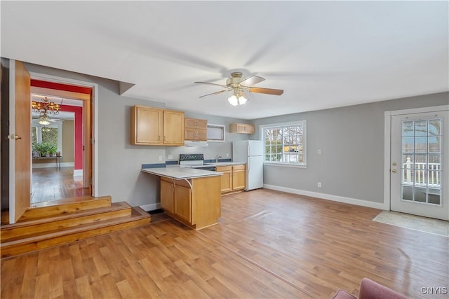
<path id="1" fill-rule="evenodd" d="M 357 200 L 356 198 L 343 197 L 343 196 L 326 194 L 326 193 L 311 192 L 311 191 L 307 191 L 307 190 L 299 190 L 299 189 L 267 185 L 267 184 L 264 184 L 264 188 L 277 190 L 277 191 L 283 191 L 283 192 L 287 192 L 287 193 L 293 193 L 293 194 L 297 194 L 297 195 L 317 197 L 317 198 L 321 198 L 323 200 L 333 200 L 334 202 L 344 202 L 347 204 L 356 204 L 356 205 L 362 206 L 362 207 L 370 207 L 370 208 L 374 208 L 374 209 L 389 210 L 389 208 L 386 207 L 386 204 L 384 204 L 383 202 L 368 202 L 367 200 Z"/>

